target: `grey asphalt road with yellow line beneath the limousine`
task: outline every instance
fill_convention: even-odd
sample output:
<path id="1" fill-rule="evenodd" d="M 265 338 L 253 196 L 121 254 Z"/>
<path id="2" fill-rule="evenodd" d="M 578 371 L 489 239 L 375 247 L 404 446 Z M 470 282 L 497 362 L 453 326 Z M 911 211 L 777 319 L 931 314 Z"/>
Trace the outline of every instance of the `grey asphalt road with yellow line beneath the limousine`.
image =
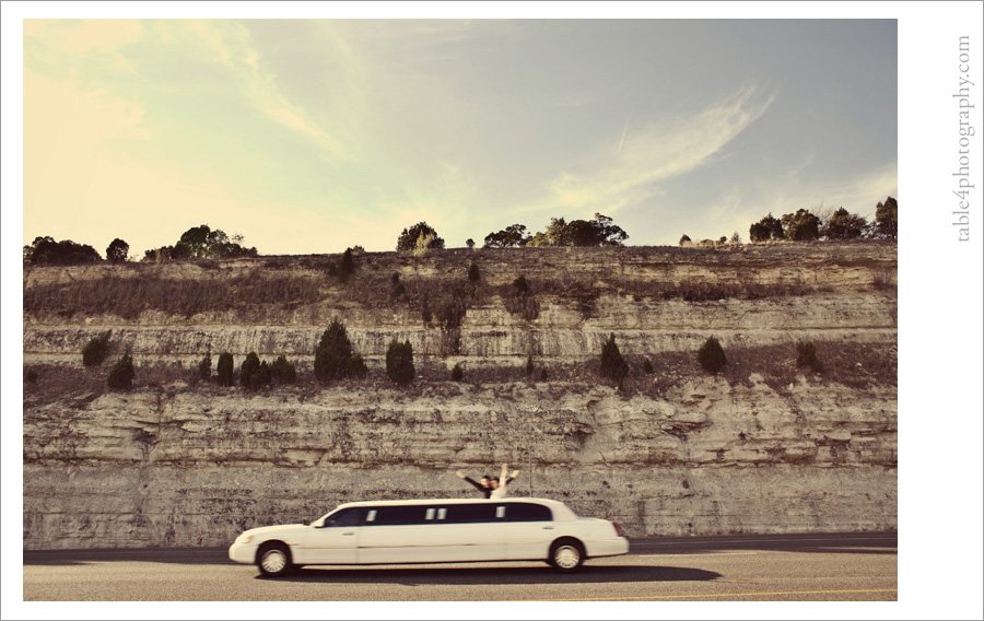
<path id="1" fill-rule="evenodd" d="M 24 552 L 24 601 L 897 601 L 895 534 L 632 539 L 576 574 L 546 563 L 304 567 L 225 549 Z"/>

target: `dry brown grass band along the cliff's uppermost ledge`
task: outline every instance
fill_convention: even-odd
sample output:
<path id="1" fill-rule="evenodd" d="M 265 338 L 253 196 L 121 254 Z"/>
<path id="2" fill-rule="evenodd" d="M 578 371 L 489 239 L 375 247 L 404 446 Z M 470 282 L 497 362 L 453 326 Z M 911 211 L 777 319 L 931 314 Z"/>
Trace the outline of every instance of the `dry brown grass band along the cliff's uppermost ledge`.
<path id="1" fill-rule="evenodd" d="M 125 263 L 103 278 L 25 286 L 23 308 L 25 314 L 61 317 L 110 314 L 132 319 L 144 310 L 157 310 L 185 317 L 236 312 L 241 319 L 272 319 L 278 310 L 290 313 L 318 303 L 358 304 L 406 308 L 425 324 L 455 327 L 471 305 L 490 298 L 501 301 L 509 313 L 534 320 L 539 314 L 540 296 L 576 300 L 587 318 L 594 316 L 594 302 L 612 291 L 635 297 L 707 302 L 803 296 L 830 290 L 829 283 L 808 283 L 801 278 L 762 284 L 755 282 L 758 268 L 741 262 L 749 253 L 755 257 L 774 255 L 778 262 L 795 260 L 796 250 L 808 248 L 763 246 L 727 253 L 670 247 L 588 248 L 571 253 L 557 248 L 514 250 L 450 249 L 425 257 L 360 254 L 354 257 L 353 273 L 345 279 L 339 276 L 337 267 L 331 269 L 338 263 L 336 255 L 270 257 L 246 266 L 235 261 L 198 261 L 188 263 L 185 272 L 184 263 L 160 269 L 147 263 Z M 735 257 L 728 259 L 731 255 Z M 551 262 L 561 258 L 567 263 Z M 737 262 L 727 263 L 726 259 Z M 845 265 L 851 262 L 844 260 Z M 628 262 L 623 266 L 621 261 Z M 469 279 L 473 262 L 479 268 L 478 280 Z M 706 267 L 715 276 L 677 282 L 671 276 L 677 262 Z M 583 268 L 570 269 L 582 263 Z M 876 263 L 872 269 L 880 271 L 874 286 L 891 292 L 893 270 Z M 632 276 L 631 269 L 626 272 L 628 266 L 637 266 L 642 271 Z M 664 268 L 665 278 L 658 276 Z M 191 276 L 175 276 L 180 273 Z M 393 280 L 394 274 L 398 274 L 398 282 Z M 517 291 L 512 284 L 523 276 L 528 291 Z"/>

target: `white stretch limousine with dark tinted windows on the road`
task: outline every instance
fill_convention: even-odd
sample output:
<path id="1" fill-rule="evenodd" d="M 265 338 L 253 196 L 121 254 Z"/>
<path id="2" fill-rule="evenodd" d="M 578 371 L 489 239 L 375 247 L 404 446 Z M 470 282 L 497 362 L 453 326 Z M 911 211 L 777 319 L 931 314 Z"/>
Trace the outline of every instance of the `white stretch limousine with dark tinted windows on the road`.
<path id="1" fill-rule="evenodd" d="M 251 528 L 229 549 L 237 563 L 279 576 L 302 565 L 547 561 L 562 572 L 629 553 L 606 519 L 544 499 L 356 502 L 308 525 Z"/>

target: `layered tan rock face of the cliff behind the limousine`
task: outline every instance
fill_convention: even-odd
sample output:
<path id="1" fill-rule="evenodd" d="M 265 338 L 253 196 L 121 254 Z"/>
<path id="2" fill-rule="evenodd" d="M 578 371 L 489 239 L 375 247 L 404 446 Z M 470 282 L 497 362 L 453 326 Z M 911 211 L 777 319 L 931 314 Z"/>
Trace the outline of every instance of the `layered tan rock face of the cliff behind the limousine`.
<path id="1" fill-rule="evenodd" d="M 138 365 L 125 392 L 25 385 L 25 548 L 224 546 L 352 500 L 467 497 L 454 471 L 503 461 L 520 469 L 512 495 L 564 501 L 630 536 L 897 527 L 895 383 L 857 379 L 864 365 L 831 380 L 845 372 L 798 370 L 792 349 L 894 355 L 895 295 L 872 286 L 894 278 L 894 245 L 373 254 L 344 285 L 323 274 L 329 260 L 25 270 L 24 359 L 45 370 L 39 384 L 93 373 L 80 351 L 106 329 Z M 470 260 L 479 284 L 464 277 Z M 394 273 L 406 294 L 393 294 Z M 513 288 L 519 274 L 530 292 Z M 141 282 L 207 293 L 176 312 L 184 300 Z M 278 300 L 247 282 L 313 290 Z M 237 366 L 250 351 L 285 354 L 304 375 L 333 317 L 368 379 L 257 392 L 189 379 L 209 349 Z M 657 360 L 655 375 L 634 370 L 634 388 L 620 390 L 593 374 L 610 333 L 634 367 Z M 658 364 L 695 358 L 711 335 L 726 352 L 788 345 L 790 382 L 769 365 L 733 361 L 713 376 Z M 379 371 L 393 338 L 413 344 L 419 365 L 462 363 L 489 379 L 399 388 Z M 515 372 L 528 356 L 549 380 Z M 151 367 L 178 371 L 141 383 Z"/>

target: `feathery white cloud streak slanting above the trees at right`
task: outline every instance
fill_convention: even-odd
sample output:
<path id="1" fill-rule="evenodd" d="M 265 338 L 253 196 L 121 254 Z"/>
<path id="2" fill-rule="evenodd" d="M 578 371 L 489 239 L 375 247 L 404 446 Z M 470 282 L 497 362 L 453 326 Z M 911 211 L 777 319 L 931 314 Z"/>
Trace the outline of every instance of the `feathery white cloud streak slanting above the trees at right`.
<path id="1" fill-rule="evenodd" d="M 769 108 L 774 96 L 757 96 L 748 86 L 693 115 L 659 119 L 622 134 L 619 149 L 599 149 L 588 172 L 562 172 L 548 184 L 537 208 L 598 209 L 606 214 L 660 192 L 659 181 L 707 162 Z M 628 126 L 626 126 L 628 127 Z"/>

